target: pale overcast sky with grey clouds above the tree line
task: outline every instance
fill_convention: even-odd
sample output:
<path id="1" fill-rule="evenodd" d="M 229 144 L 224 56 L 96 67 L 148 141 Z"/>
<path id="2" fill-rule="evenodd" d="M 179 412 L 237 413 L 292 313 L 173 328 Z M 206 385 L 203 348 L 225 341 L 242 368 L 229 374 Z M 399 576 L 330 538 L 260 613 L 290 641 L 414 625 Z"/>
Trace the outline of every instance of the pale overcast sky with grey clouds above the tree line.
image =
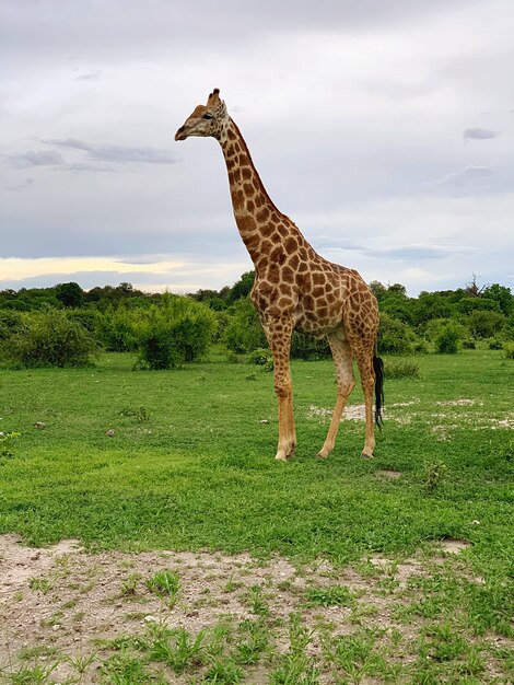
<path id="1" fill-rule="evenodd" d="M 221 90 L 319 254 L 410 295 L 514 290 L 512 0 L 2 0 L 0 290 L 192 292 L 253 265 Z"/>

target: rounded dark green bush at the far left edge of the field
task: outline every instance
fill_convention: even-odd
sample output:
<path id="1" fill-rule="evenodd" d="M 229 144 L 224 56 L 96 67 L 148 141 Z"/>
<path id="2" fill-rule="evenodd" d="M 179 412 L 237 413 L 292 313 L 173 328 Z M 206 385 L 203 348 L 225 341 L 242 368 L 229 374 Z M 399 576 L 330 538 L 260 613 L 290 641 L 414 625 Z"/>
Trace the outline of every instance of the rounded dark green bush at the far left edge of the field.
<path id="1" fill-rule="evenodd" d="M 96 345 L 90 334 L 60 310 L 27 314 L 7 340 L 8 357 L 22 367 L 85 367 Z"/>

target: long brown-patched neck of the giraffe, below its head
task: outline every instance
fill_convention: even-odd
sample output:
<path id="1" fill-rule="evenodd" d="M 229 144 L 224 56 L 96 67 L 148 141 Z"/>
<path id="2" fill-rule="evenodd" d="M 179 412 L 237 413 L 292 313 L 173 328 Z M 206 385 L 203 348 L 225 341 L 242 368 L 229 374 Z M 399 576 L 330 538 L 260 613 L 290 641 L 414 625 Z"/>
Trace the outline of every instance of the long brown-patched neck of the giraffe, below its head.
<path id="1" fill-rule="evenodd" d="M 229 172 L 235 221 L 249 256 L 258 268 L 262 260 L 268 259 L 278 234 L 281 242 L 291 234 L 297 240 L 304 239 L 294 223 L 270 199 L 246 142 L 232 119 L 220 136 L 220 144 Z"/>

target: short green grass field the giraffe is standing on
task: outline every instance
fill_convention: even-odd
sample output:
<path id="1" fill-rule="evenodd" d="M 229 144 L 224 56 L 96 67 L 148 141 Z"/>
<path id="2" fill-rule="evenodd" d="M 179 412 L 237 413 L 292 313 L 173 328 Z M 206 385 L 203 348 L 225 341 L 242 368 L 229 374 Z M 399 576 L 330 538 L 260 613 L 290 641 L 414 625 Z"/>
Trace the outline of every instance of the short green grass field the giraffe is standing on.
<path id="1" fill-rule="evenodd" d="M 452 680 L 448 664 L 460 663 L 464 652 L 480 660 L 474 635 L 512 637 L 514 365 L 501 351 L 420 357 L 420 378 L 389 380 L 373 461 L 359 457 L 363 423 L 353 420 L 341 426 L 335 453 L 315 458 L 335 399 L 332 369 L 329 362 L 294 363 L 299 448 L 287 464 L 272 458 L 271 374 L 221 360 L 132 372 L 132 361 L 106 355 L 85 370 L 0 371 L 0 431 L 21 433 L 9 450 L 0 444 L 9 452 L 0 456 L 0 533 L 19 533 L 38 546 L 72 537 L 93 552 L 249 552 L 295 564 L 326 559 L 337 568 L 373 555 L 392 564 L 430 558 L 440 541 L 466 541 L 458 572 L 428 572 L 407 588 L 416 600 L 400 603 L 405 620 L 425 622 L 410 661 L 427 665 L 425 652 L 432 669 L 409 666 L 408 677 L 493 682 L 483 669 Z M 357 388 L 351 402 L 362 402 Z M 457 617 L 462 642 L 452 648 Z M 300 635 L 301 623 L 294 625 Z M 307 658 L 308 640 L 297 640 L 304 647 L 295 659 Z M 487 649 L 492 659 L 493 648 Z M 506 664 L 512 645 L 501 649 Z M 341 680 L 332 673 L 323 681 L 326 669 L 313 669 L 311 680 L 305 671 L 269 682 L 361 682 L 366 675 L 339 664 L 330 673 Z M 407 677 L 386 671 L 378 676 Z M 507 676 L 500 669 L 498 677 Z"/>

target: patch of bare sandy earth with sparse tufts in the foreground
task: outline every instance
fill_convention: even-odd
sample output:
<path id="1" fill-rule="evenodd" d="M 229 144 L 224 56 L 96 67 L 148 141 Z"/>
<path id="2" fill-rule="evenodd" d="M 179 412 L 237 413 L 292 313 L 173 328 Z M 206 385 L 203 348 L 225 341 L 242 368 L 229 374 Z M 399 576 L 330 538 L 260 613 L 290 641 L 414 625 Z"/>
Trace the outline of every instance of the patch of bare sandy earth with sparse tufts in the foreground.
<path id="1" fill-rule="evenodd" d="M 451 562 L 465 544 L 444 541 L 442 546 Z M 175 604 L 147 585 L 147 580 L 163 570 L 179 577 Z M 9 674 L 20 670 L 32 650 L 38 654 L 38 664 L 57 664 L 48 682 L 79 682 L 77 660 L 87 657 L 91 663 L 80 675 L 81 683 L 115 682 L 102 680 L 101 671 L 101 664 L 115 653 L 113 640 L 143 636 L 150 625 L 183 627 L 195 636 L 223 620 L 238 626 L 265 616 L 271 631 L 270 648 L 280 657 L 290 648 L 290 618 L 299 615 L 314 636 L 306 653 L 320 664 L 319 683 L 332 683 L 334 673 L 323 665 L 323 630 L 328 627 L 330 640 L 373 629 L 381 631 L 384 645 L 395 632 L 407 646 L 418 643 L 421 620 L 402 622 L 395 609 L 398 603 L 411 601 L 409 582 L 429 572 L 427 564 L 418 558 L 398 562 L 376 556 L 346 569 L 328 561 L 295 567 L 278 556 L 259 561 L 244 554 L 87 554 L 74 541 L 35 549 L 14 535 L 3 535 L 0 680 L 2 671 Z M 348 590 L 350 602 L 323 601 L 325 592 L 330 597 L 330 591 L 341 587 Z M 313 591 L 318 601 L 309 601 Z M 397 652 L 390 649 L 393 661 L 405 665 L 413 659 L 407 648 Z M 242 682 L 267 683 L 269 663 L 262 658 L 245 666 Z M 165 671 L 165 682 L 185 684 L 190 677 Z"/>

